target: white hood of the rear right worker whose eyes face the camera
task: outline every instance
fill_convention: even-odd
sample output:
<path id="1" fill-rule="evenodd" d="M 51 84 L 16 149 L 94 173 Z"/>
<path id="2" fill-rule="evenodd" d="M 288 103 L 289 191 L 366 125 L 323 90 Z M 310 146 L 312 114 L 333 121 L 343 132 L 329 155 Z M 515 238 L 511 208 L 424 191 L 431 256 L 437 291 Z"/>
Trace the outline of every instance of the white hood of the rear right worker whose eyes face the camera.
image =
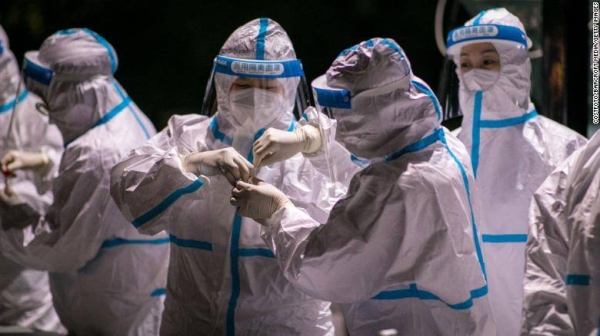
<path id="1" fill-rule="evenodd" d="M 460 52 L 465 45 L 482 42 L 491 42 L 496 48 L 500 71 L 484 70 L 487 74 L 483 76 L 488 78 L 480 80 L 489 84 L 476 87 L 469 85 L 473 81 L 468 77 L 482 77 L 476 73 L 483 71 L 461 73 Z M 530 46 L 523 24 L 505 8 L 482 11 L 448 34 L 448 55 L 457 65 L 456 74 L 461 79 L 459 100 L 465 120 L 472 119 L 474 113 L 491 120 L 520 117 L 534 109 L 529 99 L 531 61 L 527 49 Z M 479 96 L 477 92 L 481 92 Z"/>

